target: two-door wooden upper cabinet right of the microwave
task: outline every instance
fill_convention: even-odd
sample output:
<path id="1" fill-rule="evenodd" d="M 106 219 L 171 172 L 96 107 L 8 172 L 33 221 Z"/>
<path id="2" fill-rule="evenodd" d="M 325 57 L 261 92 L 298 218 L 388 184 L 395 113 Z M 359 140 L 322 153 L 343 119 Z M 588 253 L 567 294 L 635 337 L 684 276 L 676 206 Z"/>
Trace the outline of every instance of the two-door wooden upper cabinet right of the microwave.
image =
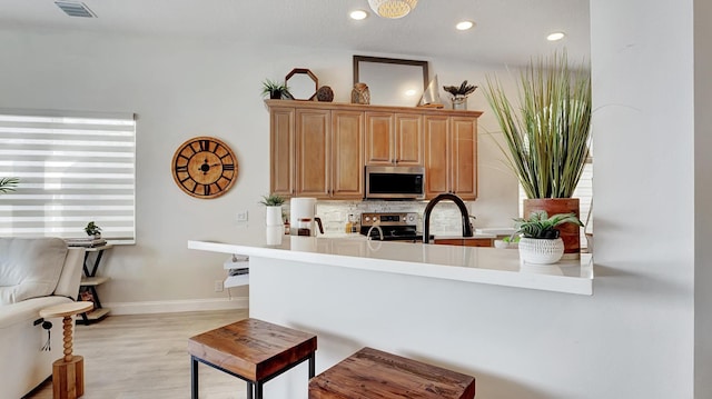
<path id="1" fill-rule="evenodd" d="M 425 197 L 477 198 L 477 118 L 426 116 Z"/>

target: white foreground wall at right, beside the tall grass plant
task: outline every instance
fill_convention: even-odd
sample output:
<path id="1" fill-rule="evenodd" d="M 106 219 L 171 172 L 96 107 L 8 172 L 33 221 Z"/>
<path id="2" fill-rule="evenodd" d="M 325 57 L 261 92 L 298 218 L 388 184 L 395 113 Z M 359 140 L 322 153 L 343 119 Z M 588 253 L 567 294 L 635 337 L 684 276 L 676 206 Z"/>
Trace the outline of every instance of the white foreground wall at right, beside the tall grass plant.
<path id="1" fill-rule="evenodd" d="M 693 397 L 692 3 L 591 2 L 601 398 Z"/>

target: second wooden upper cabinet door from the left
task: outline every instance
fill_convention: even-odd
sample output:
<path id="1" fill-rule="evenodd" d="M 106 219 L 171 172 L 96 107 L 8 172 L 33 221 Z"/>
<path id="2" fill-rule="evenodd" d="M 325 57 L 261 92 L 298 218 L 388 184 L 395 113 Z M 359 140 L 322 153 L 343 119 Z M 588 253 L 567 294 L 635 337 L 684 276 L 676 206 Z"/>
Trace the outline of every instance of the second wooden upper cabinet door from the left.
<path id="1" fill-rule="evenodd" d="M 330 162 L 330 111 L 297 110 L 296 194 L 328 198 Z"/>

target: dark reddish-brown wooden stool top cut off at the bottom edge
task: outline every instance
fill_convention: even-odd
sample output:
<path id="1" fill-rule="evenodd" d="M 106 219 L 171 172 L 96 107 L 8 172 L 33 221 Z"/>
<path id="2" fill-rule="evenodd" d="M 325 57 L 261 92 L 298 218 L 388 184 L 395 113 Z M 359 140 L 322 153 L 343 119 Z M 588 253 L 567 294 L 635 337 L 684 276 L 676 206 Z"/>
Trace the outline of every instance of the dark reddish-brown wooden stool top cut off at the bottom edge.
<path id="1" fill-rule="evenodd" d="M 472 399 L 475 378 L 364 348 L 309 381 L 309 399 Z"/>

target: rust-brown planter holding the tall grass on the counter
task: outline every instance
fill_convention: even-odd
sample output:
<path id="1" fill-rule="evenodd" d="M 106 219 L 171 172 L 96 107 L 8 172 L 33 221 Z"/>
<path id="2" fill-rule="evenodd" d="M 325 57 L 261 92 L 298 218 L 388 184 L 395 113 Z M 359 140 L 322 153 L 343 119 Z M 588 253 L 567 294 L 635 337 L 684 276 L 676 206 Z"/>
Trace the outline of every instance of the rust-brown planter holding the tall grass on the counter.
<path id="1" fill-rule="evenodd" d="M 556 213 L 574 213 L 578 218 L 577 198 L 532 198 L 524 200 L 523 216 L 528 218 L 534 211 L 545 210 L 551 217 Z M 581 228 L 574 223 L 556 227 L 564 241 L 564 259 L 581 258 Z"/>

